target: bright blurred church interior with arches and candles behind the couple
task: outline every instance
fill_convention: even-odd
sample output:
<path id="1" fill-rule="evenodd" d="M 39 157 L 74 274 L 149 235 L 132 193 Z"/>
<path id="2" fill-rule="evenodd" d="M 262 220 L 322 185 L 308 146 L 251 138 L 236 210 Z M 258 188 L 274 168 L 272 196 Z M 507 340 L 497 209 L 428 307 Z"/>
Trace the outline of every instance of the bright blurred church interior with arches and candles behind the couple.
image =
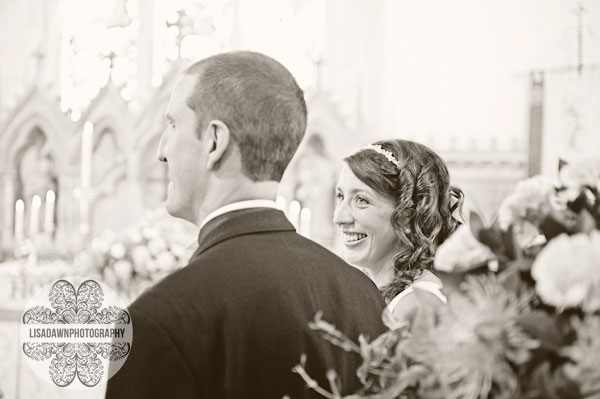
<path id="1" fill-rule="evenodd" d="M 195 60 L 254 50 L 297 78 L 309 124 L 278 204 L 334 251 L 340 159 L 375 140 L 439 152 L 488 222 L 520 179 L 600 148 L 597 0 L 0 0 L 0 32 L 7 397 L 47 388 L 13 366 L 40 285 L 84 270 L 134 298 L 185 263 L 195 231 L 161 210 L 156 149 Z"/>

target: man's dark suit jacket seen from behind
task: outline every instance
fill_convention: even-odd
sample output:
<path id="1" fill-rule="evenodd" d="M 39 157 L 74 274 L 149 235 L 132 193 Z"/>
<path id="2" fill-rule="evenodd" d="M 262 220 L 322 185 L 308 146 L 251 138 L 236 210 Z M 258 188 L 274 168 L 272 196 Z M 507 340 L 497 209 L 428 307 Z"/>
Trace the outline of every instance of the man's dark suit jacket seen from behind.
<path id="1" fill-rule="evenodd" d="M 200 231 L 189 264 L 129 308 L 133 344 L 107 398 L 317 398 L 292 368 L 343 392 L 359 385 L 359 356 L 309 329 L 315 313 L 356 341 L 384 327 L 384 301 L 363 273 L 300 236 L 278 210 L 226 213 Z"/>

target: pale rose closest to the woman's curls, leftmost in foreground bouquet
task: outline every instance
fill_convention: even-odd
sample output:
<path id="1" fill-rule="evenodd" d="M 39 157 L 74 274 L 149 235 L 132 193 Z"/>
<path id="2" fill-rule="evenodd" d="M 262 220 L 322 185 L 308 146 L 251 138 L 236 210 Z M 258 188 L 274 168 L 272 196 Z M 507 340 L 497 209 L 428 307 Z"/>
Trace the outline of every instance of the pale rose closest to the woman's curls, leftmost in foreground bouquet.
<path id="1" fill-rule="evenodd" d="M 443 272 L 462 272 L 495 259 L 492 250 L 477 241 L 463 224 L 435 252 L 433 266 Z"/>

